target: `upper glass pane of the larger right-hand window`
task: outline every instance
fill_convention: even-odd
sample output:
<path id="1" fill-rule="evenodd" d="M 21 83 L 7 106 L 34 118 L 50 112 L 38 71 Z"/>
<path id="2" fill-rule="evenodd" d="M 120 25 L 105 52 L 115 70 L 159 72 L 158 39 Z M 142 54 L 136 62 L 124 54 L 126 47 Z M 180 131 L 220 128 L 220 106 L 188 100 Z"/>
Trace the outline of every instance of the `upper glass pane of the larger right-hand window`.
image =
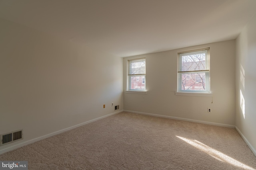
<path id="1" fill-rule="evenodd" d="M 206 53 L 186 53 L 182 55 L 181 71 L 206 70 Z"/>

